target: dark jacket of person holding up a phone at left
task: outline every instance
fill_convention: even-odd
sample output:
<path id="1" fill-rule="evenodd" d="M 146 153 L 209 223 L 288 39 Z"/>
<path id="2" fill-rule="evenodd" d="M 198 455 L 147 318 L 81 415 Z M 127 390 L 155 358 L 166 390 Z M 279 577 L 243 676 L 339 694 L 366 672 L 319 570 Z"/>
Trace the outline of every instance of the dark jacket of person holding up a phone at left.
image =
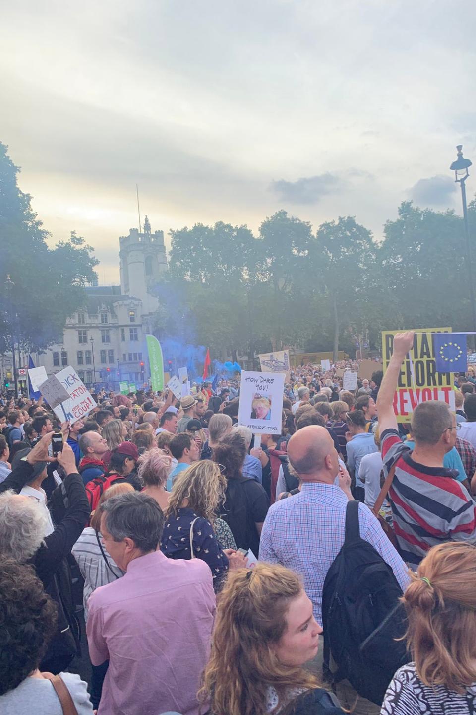
<path id="1" fill-rule="evenodd" d="M 8 489 L 19 493 L 31 480 L 31 472 L 31 465 L 21 461 L 0 484 L 0 493 Z M 57 526 L 53 533 L 44 538 L 38 551 L 31 557 L 31 564 L 46 593 L 49 593 L 58 606 L 58 630 L 41 663 L 43 670 L 49 669 L 58 673 L 66 669 L 79 653 L 80 634 L 71 596 L 68 556 L 88 522 L 90 509 L 83 481 L 78 473 L 67 475 L 54 490 L 50 511 Z"/>

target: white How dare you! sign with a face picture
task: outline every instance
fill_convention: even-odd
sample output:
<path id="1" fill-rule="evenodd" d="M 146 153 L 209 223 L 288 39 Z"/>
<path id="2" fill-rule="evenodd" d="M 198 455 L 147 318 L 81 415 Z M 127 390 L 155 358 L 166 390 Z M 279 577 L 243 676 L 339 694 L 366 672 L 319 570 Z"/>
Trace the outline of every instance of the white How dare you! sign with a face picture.
<path id="1" fill-rule="evenodd" d="M 238 425 L 257 434 L 281 433 L 284 373 L 241 373 Z"/>

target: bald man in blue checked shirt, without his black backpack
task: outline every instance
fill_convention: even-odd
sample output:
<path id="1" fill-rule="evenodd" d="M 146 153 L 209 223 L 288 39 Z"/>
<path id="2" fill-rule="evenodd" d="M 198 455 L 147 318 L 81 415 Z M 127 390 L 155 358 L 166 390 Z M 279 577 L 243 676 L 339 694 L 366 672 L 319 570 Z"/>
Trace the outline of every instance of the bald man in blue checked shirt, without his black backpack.
<path id="1" fill-rule="evenodd" d="M 288 458 L 302 487 L 300 493 L 270 507 L 261 532 L 259 558 L 268 563 L 281 563 L 300 574 L 305 591 L 313 601 L 315 620 L 322 623 L 325 576 L 345 538 L 345 510 L 352 499 L 350 477 L 339 468 L 338 453 L 328 430 L 318 425 L 303 427 L 290 438 Z M 337 475 L 339 483 L 335 484 Z M 393 568 L 395 578 L 405 591 L 409 582 L 407 566 L 365 504 L 359 505 L 359 522 L 360 536 Z M 322 654 L 320 658 L 322 664 Z M 348 681 L 342 683 L 347 687 Z M 357 697 L 355 691 L 353 694 Z M 356 706 L 353 712 L 380 713 L 378 706 L 359 700 L 360 707 Z"/>

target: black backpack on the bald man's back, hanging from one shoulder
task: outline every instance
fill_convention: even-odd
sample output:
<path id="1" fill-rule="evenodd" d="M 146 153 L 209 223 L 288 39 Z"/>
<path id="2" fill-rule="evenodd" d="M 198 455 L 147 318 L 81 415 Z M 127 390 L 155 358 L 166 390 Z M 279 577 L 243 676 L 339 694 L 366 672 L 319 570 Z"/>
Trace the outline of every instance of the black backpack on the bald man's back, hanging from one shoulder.
<path id="1" fill-rule="evenodd" d="M 334 685 L 348 679 L 381 705 L 395 671 L 410 661 L 405 640 L 396 640 L 405 634 L 405 608 L 392 568 L 360 538 L 358 509 L 358 501 L 348 503 L 345 541 L 324 581 L 323 668 Z"/>

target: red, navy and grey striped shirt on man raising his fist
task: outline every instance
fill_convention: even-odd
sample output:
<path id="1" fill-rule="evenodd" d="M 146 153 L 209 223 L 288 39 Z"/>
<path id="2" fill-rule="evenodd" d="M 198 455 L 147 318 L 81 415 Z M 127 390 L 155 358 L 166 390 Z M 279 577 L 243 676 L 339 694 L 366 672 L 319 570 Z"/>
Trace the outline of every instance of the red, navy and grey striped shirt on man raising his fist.
<path id="1" fill-rule="evenodd" d="M 396 463 L 388 499 L 405 561 L 416 566 L 445 541 L 476 543 L 476 506 L 454 470 L 414 462 L 397 430 L 385 430 L 381 440 L 385 477 Z"/>

